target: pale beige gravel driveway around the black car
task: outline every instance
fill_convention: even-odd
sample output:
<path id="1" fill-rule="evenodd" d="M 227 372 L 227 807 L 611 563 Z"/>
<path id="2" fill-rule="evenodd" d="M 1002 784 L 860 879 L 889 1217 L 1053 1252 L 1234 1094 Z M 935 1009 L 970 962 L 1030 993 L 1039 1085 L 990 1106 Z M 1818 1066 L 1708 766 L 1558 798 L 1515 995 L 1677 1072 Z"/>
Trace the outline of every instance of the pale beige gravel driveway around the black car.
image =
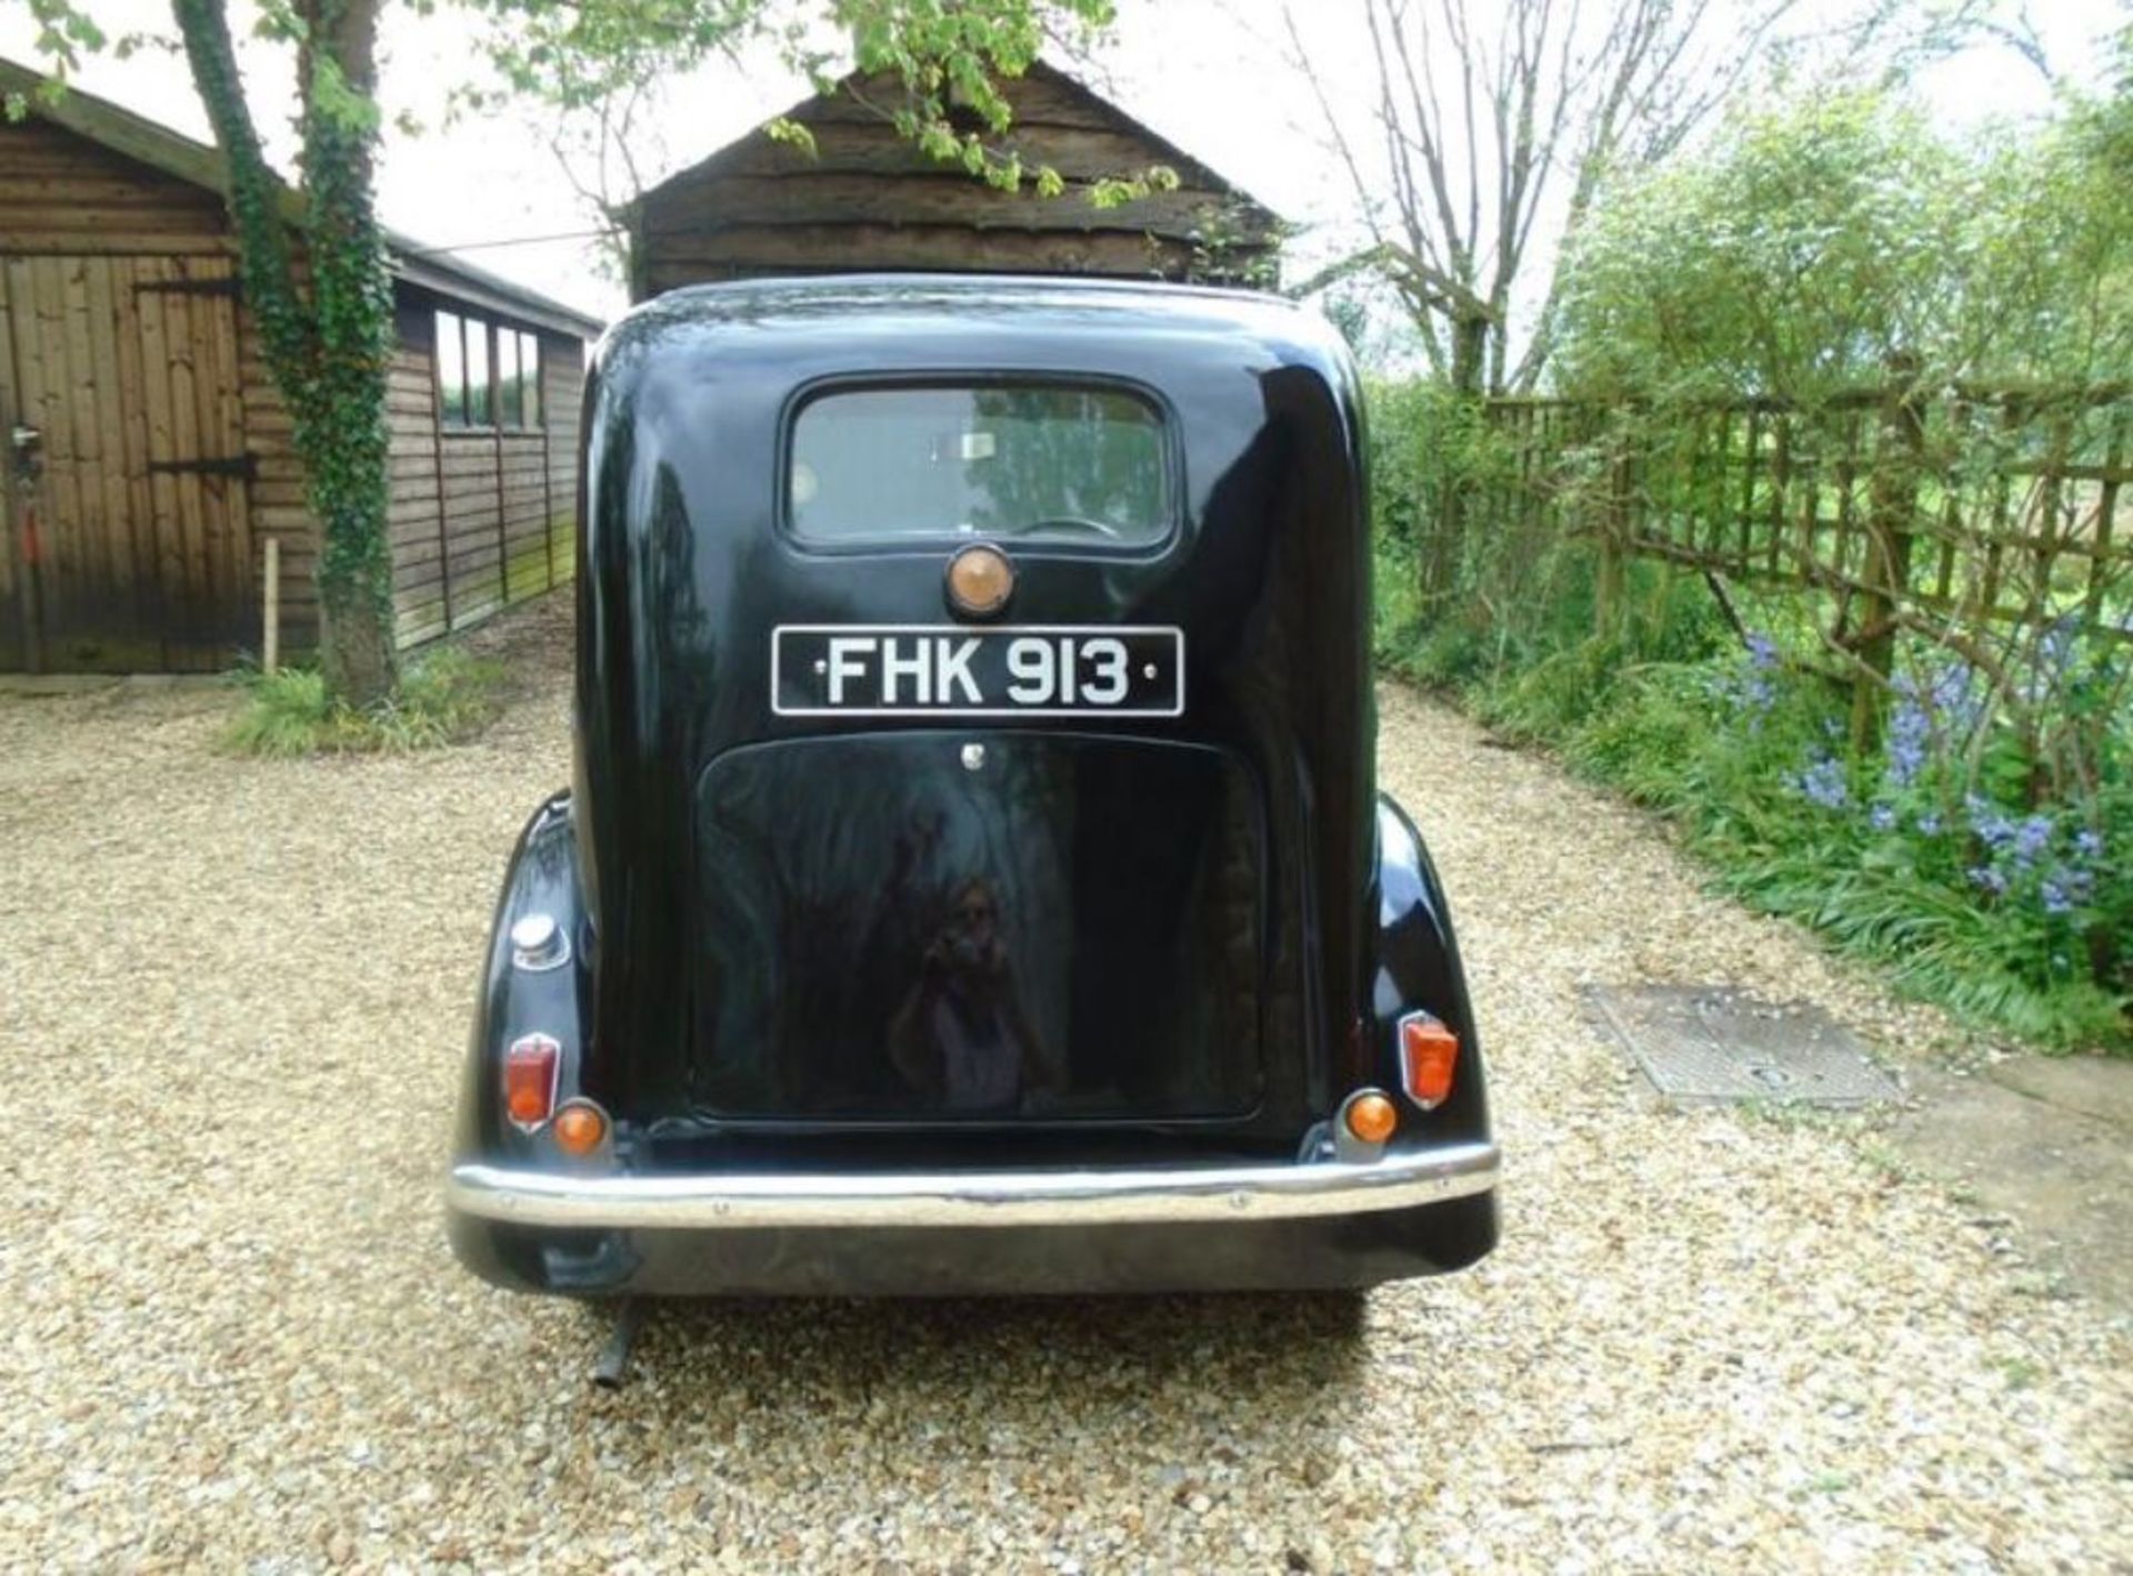
<path id="1" fill-rule="evenodd" d="M 1372 1294 L 591 1312 L 437 1211 L 567 627 L 467 749 L 230 761 L 224 691 L 0 697 L 0 1565 L 2133 1570 L 2133 1341 L 1830 1124 L 1659 1109 L 1581 981 L 1892 1007 L 1647 823 L 1384 695 L 1508 1147 Z"/>

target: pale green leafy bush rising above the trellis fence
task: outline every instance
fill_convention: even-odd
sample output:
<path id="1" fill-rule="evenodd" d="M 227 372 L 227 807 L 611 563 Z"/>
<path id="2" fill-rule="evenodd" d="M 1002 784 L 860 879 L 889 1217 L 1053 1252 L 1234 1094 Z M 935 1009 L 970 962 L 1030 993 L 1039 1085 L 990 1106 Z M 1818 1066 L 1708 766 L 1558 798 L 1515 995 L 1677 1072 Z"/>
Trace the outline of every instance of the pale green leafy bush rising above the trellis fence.
<path id="1" fill-rule="evenodd" d="M 1711 147 L 1627 171 L 1563 264 L 1557 382 L 1777 395 L 2133 369 L 2133 205 L 2107 107 L 1962 145 L 1903 98 L 1734 109 Z"/>

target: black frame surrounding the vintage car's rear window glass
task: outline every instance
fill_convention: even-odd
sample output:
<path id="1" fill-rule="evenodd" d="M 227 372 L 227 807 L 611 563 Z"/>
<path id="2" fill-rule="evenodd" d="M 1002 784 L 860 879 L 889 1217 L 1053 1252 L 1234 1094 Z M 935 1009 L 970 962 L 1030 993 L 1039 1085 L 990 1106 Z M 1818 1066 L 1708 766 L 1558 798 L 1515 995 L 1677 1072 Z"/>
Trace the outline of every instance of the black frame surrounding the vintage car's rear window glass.
<path id="1" fill-rule="evenodd" d="M 832 395 L 879 395 L 898 388 L 975 390 L 975 388 L 1035 388 L 1035 390 L 1084 390 L 1101 395 L 1128 395 L 1156 414 L 1162 454 L 1162 529 L 1145 542 L 1111 542 L 1092 535 L 1090 540 L 1028 540 L 990 537 L 985 533 L 960 535 L 943 531 L 939 535 L 864 535 L 823 540 L 806 535 L 793 522 L 793 431 L 808 405 Z M 968 546 L 971 542 L 1000 542 L 1011 552 L 1043 552 L 1060 559 L 1160 559 L 1182 537 L 1186 529 L 1186 446 L 1177 407 L 1154 384 L 1139 377 L 1092 371 L 1047 371 L 1043 367 L 926 367 L 892 373 L 830 373 L 811 377 L 793 388 L 779 407 L 776 478 L 774 478 L 774 520 L 776 531 L 802 552 L 821 557 L 847 557 L 853 552 L 885 554 L 936 554 Z"/>

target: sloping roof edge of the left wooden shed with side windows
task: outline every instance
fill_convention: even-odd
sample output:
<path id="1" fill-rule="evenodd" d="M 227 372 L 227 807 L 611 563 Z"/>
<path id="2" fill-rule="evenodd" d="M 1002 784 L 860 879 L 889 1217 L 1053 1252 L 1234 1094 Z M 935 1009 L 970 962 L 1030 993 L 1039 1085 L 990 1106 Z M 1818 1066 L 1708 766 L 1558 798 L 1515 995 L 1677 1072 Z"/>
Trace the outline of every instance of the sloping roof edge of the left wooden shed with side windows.
<path id="1" fill-rule="evenodd" d="M 207 188 L 218 196 L 228 192 L 222 166 L 222 151 L 209 143 L 175 132 L 162 122 L 147 119 L 109 98 L 66 87 L 58 98 L 47 98 L 49 77 L 19 62 L 0 55 L 0 94 L 21 94 L 30 113 L 64 126 L 92 143 L 109 147 L 113 154 L 139 160 L 173 179 Z M 290 224 L 303 218 L 303 194 L 282 188 L 282 213 Z M 420 241 L 384 230 L 392 275 L 424 290 L 459 296 L 471 305 L 486 307 L 557 333 L 593 337 L 602 320 L 576 307 L 567 307 L 552 296 L 514 284 L 488 269 L 446 256 L 424 247 Z"/>

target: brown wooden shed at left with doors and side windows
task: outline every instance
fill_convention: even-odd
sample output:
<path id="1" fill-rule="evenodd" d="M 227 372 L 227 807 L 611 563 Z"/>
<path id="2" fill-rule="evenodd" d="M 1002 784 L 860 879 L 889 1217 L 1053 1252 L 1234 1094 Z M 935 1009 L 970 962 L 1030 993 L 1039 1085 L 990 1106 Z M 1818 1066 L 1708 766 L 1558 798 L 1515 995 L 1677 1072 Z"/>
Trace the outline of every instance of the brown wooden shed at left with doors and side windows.
<path id="1" fill-rule="evenodd" d="M 215 149 L 0 62 L 0 670 L 228 668 L 316 644 L 318 522 L 237 279 Z M 570 578 L 599 324 L 392 239 L 403 646 Z"/>

